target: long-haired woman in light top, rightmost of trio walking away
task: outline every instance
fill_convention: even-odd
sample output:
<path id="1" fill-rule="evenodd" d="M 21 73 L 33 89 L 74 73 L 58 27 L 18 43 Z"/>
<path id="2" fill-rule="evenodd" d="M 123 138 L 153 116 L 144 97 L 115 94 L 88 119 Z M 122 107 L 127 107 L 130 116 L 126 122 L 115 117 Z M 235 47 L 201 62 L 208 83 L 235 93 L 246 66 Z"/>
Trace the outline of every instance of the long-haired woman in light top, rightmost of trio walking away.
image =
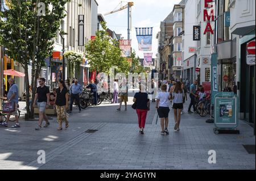
<path id="1" fill-rule="evenodd" d="M 176 131 L 180 131 L 180 115 L 181 110 L 183 109 L 183 90 L 181 89 L 181 83 L 177 82 L 172 92 L 172 97 L 174 98 L 174 120 L 175 126 L 174 129 Z"/>

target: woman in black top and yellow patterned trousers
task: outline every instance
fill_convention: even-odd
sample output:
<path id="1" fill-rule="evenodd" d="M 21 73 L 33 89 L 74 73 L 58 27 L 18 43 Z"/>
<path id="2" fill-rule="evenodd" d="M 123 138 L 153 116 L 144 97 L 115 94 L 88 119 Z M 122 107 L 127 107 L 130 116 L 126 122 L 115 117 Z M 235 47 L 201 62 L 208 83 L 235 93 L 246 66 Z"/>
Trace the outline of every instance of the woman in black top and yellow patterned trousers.
<path id="1" fill-rule="evenodd" d="M 64 81 L 58 81 L 59 88 L 56 90 L 55 107 L 57 112 L 58 130 L 62 130 L 62 123 L 65 121 L 65 128 L 68 128 L 68 89 Z"/>

